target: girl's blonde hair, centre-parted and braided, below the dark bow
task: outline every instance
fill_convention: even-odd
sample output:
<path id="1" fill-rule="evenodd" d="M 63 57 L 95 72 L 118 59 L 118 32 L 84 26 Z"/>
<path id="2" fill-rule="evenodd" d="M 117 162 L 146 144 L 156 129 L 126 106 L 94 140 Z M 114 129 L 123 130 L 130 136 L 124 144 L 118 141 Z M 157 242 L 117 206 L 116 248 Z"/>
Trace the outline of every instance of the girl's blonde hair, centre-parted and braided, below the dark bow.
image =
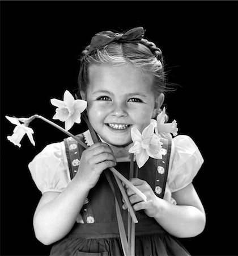
<path id="1" fill-rule="evenodd" d="M 113 42 L 101 49 L 87 54 L 88 47 L 80 57 L 78 76 L 79 90 L 87 92 L 88 67 L 92 64 L 131 64 L 142 72 L 150 73 L 154 77 L 153 89 L 156 94 L 167 92 L 163 69 L 162 52 L 154 43 L 141 39 L 138 44 Z"/>

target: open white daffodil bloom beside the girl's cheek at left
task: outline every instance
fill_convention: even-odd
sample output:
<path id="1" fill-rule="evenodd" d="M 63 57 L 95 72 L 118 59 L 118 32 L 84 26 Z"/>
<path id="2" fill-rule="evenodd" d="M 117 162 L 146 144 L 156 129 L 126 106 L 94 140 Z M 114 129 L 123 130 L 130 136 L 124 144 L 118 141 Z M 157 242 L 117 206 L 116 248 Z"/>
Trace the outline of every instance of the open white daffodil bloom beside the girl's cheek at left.
<path id="1" fill-rule="evenodd" d="M 53 119 L 59 119 L 65 122 L 66 131 L 68 131 L 74 123 L 81 122 L 81 113 L 87 108 L 87 101 L 74 100 L 73 95 L 68 90 L 63 94 L 63 101 L 52 98 L 50 102 L 57 107 Z"/>

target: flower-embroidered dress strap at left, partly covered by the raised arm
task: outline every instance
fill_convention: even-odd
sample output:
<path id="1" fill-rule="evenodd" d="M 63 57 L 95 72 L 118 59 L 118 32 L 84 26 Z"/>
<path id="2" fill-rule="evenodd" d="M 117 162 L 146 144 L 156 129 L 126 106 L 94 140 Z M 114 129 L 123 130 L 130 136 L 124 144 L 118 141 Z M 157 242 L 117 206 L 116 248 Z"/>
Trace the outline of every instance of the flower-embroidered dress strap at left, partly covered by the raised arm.
<path id="1" fill-rule="evenodd" d="M 77 137 L 81 141 L 85 142 L 82 134 L 77 135 Z M 75 139 L 71 137 L 64 139 L 63 142 L 65 143 L 70 178 L 73 179 L 76 173 L 78 172 L 80 157 L 82 155 L 84 148 L 79 143 L 77 143 Z M 82 209 L 80 210 L 80 214 L 83 218 L 84 223 L 90 224 L 95 222 L 92 207 L 90 201 L 87 198 L 84 201 Z"/>

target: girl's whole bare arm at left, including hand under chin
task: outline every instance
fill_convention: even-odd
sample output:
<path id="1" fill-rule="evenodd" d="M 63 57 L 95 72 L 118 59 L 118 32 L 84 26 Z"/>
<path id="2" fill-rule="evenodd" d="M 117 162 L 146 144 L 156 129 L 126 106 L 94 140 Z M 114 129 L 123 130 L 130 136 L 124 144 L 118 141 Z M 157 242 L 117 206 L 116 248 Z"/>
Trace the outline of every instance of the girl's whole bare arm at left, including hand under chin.
<path id="1" fill-rule="evenodd" d="M 84 150 L 79 170 L 64 191 L 45 192 L 42 195 L 33 217 L 36 238 L 49 245 L 65 237 L 101 172 L 115 165 L 113 152 L 105 143 L 95 143 Z"/>

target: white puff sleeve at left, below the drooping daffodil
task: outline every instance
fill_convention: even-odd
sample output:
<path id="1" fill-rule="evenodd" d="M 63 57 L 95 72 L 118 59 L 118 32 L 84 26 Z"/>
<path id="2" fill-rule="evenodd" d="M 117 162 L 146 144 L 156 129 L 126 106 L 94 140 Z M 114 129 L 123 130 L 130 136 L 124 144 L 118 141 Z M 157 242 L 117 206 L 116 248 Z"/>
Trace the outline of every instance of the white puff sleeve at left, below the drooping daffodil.
<path id="1" fill-rule="evenodd" d="M 28 164 L 32 179 L 41 193 L 62 192 L 70 182 L 69 167 L 63 142 L 46 146 Z"/>

